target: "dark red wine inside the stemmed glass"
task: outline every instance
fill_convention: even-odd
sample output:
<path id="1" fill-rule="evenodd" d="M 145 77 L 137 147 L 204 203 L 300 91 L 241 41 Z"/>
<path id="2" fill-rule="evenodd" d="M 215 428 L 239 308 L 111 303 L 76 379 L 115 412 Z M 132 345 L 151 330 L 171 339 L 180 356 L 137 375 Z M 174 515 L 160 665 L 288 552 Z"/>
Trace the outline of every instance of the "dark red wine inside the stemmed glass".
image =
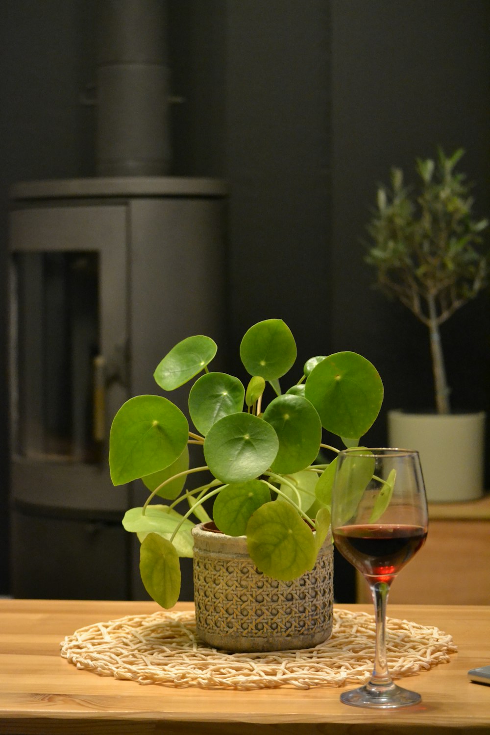
<path id="1" fill-rule="evenodd" d="M 370 582 L 389 582 L 425 542 L 422 526 L 383 525 L 339 526 L 334 541 L 340 553 Z"/>

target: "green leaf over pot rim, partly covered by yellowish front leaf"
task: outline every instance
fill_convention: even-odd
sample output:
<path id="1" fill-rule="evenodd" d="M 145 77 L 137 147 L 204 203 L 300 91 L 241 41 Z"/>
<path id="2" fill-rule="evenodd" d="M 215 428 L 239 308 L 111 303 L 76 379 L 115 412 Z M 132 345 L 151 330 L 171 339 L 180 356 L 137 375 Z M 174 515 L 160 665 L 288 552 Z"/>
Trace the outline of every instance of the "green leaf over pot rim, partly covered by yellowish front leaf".
<path id="1" fill-rule="evenodd" d="M 228 536 L 244 536 L 251 514 L 270 502 L 270 490 L 262 480 L 226 485 L 213 505 L 217 528 Z"/>

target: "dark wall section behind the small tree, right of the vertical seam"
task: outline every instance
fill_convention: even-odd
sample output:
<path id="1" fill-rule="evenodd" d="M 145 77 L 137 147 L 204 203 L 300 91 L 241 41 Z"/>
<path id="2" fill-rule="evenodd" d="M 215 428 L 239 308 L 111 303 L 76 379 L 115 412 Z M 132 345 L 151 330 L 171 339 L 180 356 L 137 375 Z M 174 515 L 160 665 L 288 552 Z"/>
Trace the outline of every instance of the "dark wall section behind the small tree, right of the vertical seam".
<path id="1" fill-rule="evenodd" d="M 465 148 L 475 211 L 490 215 L 490 4 L 333 0 L 331 33 L 333 346 L 375 362 L 384 409 L 433 409 L 427 330 L 372 291 L 359 241 L 390 167 L 414 182 L 438 145 Z M 442 327 L 455 409 L 489 409 L 489 326 L 486 293 Z"/>

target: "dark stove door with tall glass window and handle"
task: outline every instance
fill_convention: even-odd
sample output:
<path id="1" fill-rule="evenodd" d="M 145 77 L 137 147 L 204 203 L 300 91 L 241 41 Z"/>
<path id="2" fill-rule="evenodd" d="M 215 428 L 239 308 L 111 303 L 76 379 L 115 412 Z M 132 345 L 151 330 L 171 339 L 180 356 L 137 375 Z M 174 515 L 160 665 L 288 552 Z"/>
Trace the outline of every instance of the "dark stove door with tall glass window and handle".
<path id="1" fill-rule="evenodd" d="M 127 507 L 107 467 L 110 422 L 129 395 L 126 239 L 124 205 L 12 212 L 15 501 Z"/>

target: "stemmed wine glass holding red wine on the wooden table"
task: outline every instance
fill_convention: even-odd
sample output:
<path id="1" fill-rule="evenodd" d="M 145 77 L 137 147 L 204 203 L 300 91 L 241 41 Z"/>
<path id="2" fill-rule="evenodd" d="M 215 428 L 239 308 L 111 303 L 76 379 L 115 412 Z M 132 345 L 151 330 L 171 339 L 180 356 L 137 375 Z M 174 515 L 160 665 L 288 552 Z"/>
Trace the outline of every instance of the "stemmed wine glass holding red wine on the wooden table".
<path id="1" fill-rule="evenodd" d="M 404 707 L 421 700 L 397 686 L 386 664 L 386 601 L 402 567 L 425 542 L 427 499 L 416 451 L 350 448 L 339 452 L 332 488 L 336 548 L 366 578 L 375 605 L 370 681 L 340 699 L 358 707 Z"/>

